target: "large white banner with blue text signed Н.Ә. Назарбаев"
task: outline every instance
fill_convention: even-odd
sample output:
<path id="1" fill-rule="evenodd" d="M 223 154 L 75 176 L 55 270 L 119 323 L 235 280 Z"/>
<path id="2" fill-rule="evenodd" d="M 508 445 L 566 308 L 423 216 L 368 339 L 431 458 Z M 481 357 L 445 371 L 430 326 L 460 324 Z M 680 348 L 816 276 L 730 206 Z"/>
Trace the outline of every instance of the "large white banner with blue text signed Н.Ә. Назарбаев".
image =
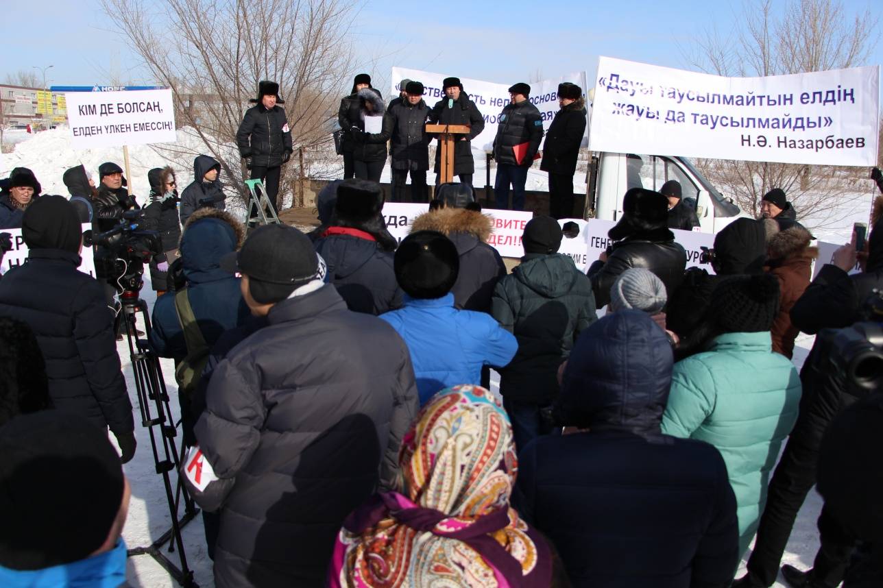
<path id="1" fill-rule="evenodd" d="M 723 78 L 600 57 L 592 151 L 871 166 L 879 65 Z"/>

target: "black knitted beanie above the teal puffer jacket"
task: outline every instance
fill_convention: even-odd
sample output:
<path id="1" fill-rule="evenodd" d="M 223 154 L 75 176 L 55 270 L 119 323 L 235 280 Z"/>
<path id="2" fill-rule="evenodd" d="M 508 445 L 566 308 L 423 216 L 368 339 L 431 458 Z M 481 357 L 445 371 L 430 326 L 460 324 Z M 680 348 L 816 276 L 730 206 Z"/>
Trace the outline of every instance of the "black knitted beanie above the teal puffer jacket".
<path id="1" fill-rule="evenodd" d="M 725 278 L 714 288 L 708 311 L 723 333 L 768 331 L 779 311 L 779 280 L 770 274 Z"/>

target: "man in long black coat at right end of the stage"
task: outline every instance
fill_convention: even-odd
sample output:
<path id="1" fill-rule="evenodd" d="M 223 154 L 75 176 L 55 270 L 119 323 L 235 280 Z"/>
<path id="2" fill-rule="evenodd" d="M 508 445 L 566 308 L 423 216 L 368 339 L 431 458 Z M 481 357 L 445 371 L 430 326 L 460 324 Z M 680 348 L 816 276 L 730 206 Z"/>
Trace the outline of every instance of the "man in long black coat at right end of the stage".
<path id="1" fill-rule="evenodd" d="M 549 216 L 573 216 L 573 174 L 577 171 L 577 155 L 585 132 L 585 100 L 576 84 L 558 85 L 558 103 L 552 125 L 543 144 L 540 170 L 549 174 Z"/>

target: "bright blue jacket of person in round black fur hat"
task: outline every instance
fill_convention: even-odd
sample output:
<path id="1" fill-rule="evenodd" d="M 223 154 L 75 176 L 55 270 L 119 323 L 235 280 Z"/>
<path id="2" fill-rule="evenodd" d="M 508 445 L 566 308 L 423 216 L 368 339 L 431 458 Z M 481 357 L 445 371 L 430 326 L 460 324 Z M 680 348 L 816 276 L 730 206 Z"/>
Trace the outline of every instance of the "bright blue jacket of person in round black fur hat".
<path id="1" fill-rule="evenodd" d="M 489 314 L 457 310 L 453 294 L 431 300 L 405 294 L 402 308 L 380 318 L 408 345 L 421 406 L 443 388 L 478 386 L 481 366 L 505 366 L 518 351 L 515 335 Z"/>

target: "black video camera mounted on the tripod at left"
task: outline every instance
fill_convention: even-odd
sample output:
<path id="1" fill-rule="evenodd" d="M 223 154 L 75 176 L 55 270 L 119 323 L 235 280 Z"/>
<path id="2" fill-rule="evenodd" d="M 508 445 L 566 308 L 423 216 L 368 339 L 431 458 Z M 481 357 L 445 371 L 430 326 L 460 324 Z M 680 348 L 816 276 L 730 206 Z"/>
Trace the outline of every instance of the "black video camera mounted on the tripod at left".
<path id="1" fill-rule="evenodd" d="M 139 230 L 140 210 L 127 210 L 116 227 L 103 233 L 83 233 L 83 245 L 96 245 L 95 272 L 123 290 L 140 291 L 144 264 L 162 255 L 155 230 Z"/>

